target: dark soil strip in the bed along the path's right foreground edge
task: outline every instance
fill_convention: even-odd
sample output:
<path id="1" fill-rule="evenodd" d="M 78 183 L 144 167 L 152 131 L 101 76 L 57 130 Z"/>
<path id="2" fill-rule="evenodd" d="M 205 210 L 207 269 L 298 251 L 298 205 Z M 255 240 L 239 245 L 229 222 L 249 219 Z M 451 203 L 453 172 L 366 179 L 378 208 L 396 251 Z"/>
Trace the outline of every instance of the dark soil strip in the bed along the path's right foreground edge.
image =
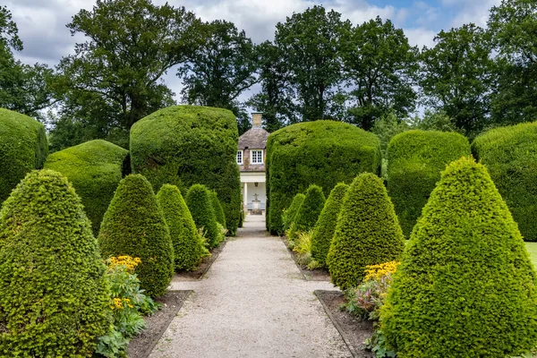
<path id="1" fill-rule="evenodd" d="M 343 294 L 340 291 L 315 291 L 328 317 L 334 323 L 345 344 L 355 358 L 372 358 L 373 354 L 365 348 L 363 342 L 371 338 L 373 324 L 369 320 L 360 320 L 347 311 L 341 311 L 339 307 L 344 303 Z"/>

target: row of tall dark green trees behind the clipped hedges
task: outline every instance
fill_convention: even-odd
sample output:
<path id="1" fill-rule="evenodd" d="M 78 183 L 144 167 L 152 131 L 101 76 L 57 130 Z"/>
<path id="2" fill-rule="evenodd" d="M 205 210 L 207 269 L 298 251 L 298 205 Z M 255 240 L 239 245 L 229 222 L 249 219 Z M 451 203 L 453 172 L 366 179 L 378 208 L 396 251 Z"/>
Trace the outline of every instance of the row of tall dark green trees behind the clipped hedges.
<path id="1" fill-rule="evenodd" d="M 47 122 L 53 150 L 92 139 L 126 147 L 132 124 L 175 104 L 168 71 L 183 81 L 183 103 L 230 109 L 241 132 L 248 108 L 268 131 L 321 118 L 393 131 L 410 119 L 469 137 L 537 113 L 537 3 L 525 0 L 492 7 L 486 29 L 442 30 L 422 48 L 392 21 L 353 24 L 317 5 L 260 44 L 233 22 L 151 0 L 98 0 L 66 26 L 85 36 L 72 55 L 54 68 L 21 64 L 17 26 L 0 7 L 0 107 Z"/>

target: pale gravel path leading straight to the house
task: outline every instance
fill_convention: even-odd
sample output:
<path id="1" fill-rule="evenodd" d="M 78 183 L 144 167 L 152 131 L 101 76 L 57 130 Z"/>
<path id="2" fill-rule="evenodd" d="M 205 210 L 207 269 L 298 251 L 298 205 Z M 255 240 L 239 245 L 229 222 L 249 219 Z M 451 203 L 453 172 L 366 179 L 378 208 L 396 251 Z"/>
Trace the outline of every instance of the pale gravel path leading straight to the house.
<path id="1" fill-rule="evenodd" d="M 247 221 L 192 289 L 151 358 L 352 357 L 313 295 L 335 289 L 305 281 L 265 223 Z"/>

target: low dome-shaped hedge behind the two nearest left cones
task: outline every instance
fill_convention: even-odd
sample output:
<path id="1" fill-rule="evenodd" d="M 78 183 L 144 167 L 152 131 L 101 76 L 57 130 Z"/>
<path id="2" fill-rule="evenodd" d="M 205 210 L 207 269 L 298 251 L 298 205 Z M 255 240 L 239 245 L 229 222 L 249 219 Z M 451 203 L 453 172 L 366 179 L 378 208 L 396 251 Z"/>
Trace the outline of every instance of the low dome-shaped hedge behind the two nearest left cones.
<path id="1" fill-rule="evenodd" d="M 56 151 L 45 162 L 45 168 L 60 172 L 72 183 L 94 234 L 98 234 L 103 215 L 114 197 L 128 154 L 128 150 L 115 144 L 97 140 Z"/>

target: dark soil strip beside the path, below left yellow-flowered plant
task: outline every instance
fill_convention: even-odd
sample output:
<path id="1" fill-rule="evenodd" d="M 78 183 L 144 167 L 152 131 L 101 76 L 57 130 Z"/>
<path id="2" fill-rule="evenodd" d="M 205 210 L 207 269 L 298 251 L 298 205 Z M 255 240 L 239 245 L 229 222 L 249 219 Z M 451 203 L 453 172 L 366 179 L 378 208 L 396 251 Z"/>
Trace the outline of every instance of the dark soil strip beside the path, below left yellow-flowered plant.
<path id="1" fill-rule="evenodd" d="M 127 350 L 129 358 L 149 357 L 158 340 L 174 320 L 175 315 L 191 293 L 192 291 L 168 291 L 165 295 L 155 300 L 162 304 L 162 308 L 151 316 L 144 318 L 146 328 L 129 343 Z"/>

